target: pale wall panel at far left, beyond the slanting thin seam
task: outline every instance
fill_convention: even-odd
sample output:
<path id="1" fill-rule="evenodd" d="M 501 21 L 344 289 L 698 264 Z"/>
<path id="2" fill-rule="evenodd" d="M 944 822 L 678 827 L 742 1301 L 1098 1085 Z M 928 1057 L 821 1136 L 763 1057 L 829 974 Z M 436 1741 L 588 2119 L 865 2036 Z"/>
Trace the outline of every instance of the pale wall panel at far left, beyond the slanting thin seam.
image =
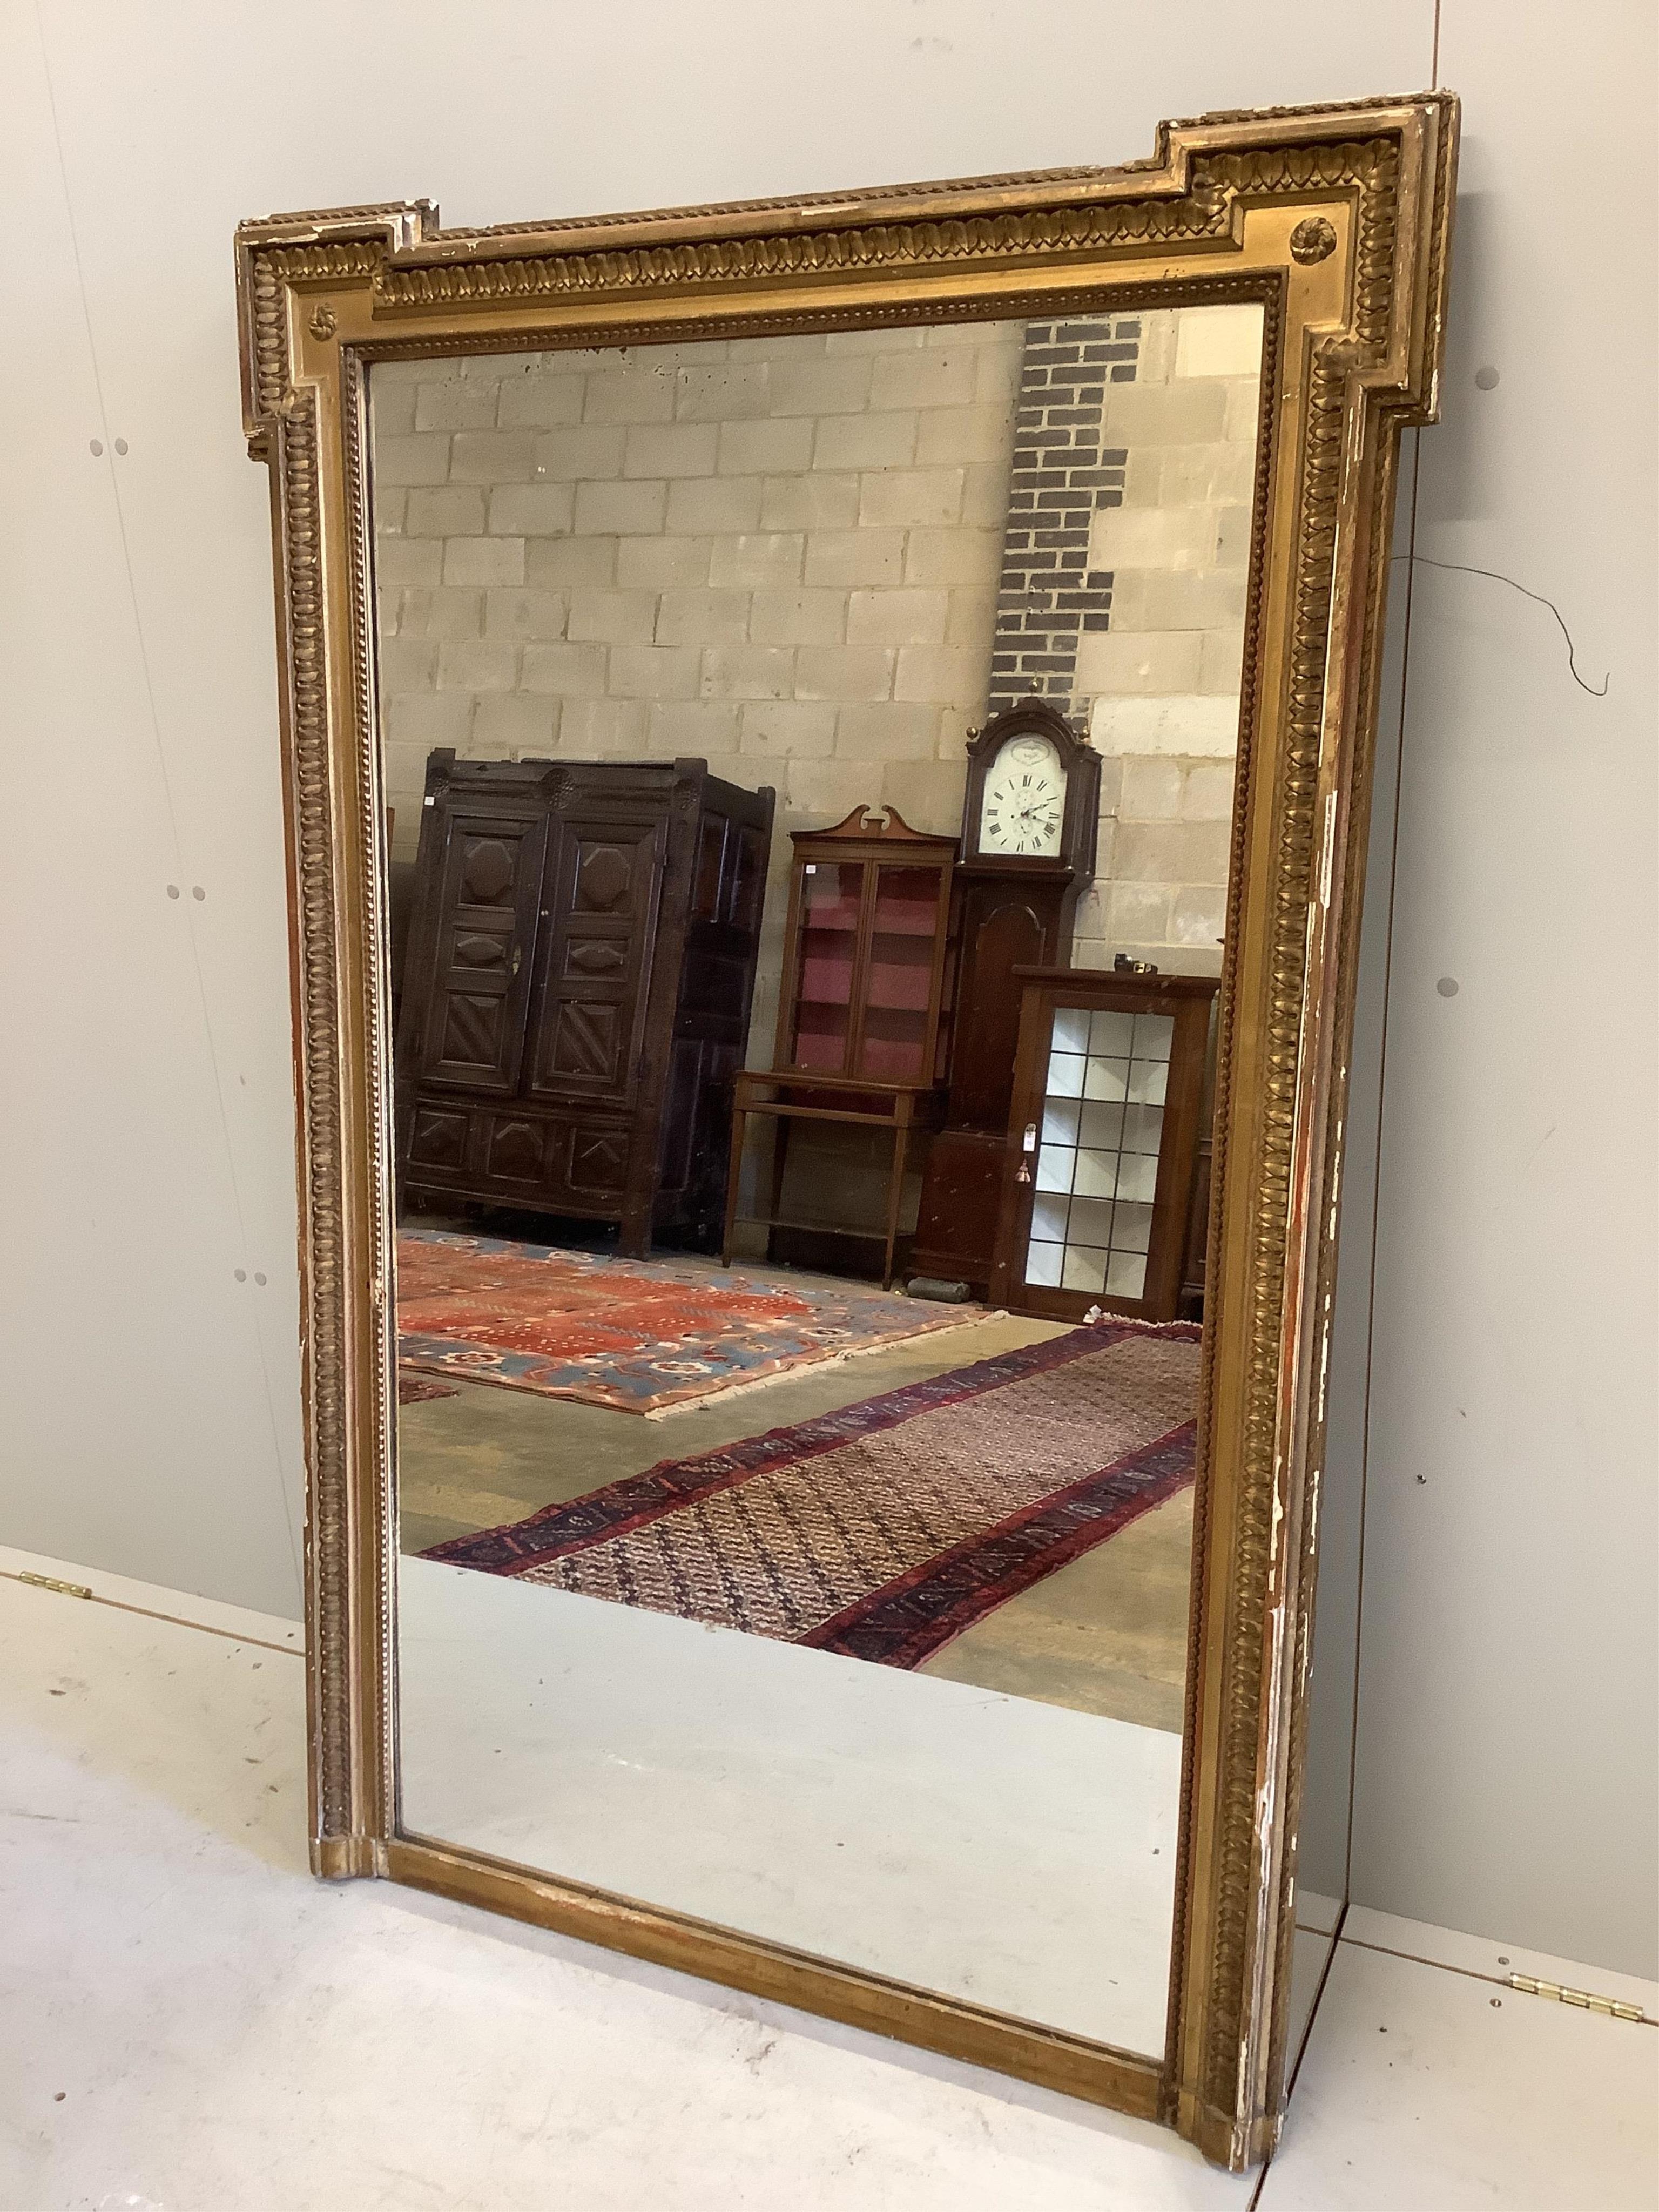
<path id="1" fill-rule="evenodd" d="M 299 1498 L 197 969 L 215 914 L 173 827 L 40 49 L 9 29 L 29 35 L 0 64 L 4 1537 L 281 1613 Z M 292 1400 L 292 1349 L 276 1387 Z"/>

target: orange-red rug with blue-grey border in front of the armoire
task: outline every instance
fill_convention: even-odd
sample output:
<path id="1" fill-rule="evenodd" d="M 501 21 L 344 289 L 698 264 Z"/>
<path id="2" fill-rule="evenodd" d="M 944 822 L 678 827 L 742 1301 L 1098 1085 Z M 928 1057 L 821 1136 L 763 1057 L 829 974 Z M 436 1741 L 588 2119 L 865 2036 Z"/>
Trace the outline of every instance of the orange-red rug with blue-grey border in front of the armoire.
<path id="1" fill-rule="evenodd" d="M 927 1305 L 852 1283 L 816 1290 L 750 1270 L 712 1283 L 706 1267 L 672 1259 L 398 1232 L 403 1374 L 502 1383 L 622 1413 L 668 1413 L 984 1318 L 978 1305 Z"/>

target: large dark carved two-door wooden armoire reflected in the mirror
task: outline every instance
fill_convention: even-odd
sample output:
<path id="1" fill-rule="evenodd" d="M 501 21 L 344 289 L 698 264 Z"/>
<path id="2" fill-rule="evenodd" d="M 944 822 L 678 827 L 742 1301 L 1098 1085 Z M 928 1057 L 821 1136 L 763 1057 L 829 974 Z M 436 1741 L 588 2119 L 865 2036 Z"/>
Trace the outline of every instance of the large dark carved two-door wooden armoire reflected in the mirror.
<path id="1" fill-rule="evenodd" d="M 708 1248 L 772 792 L 706 761 L 434 752 L 398 1015 L 405 1197 Z"/>

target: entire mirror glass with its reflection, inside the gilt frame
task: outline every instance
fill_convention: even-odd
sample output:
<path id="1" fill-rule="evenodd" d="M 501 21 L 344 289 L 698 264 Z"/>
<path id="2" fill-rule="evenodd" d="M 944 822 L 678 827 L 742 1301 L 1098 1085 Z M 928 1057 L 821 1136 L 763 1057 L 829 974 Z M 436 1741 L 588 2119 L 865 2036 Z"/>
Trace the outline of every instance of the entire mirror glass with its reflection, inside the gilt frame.
<path id="1" fill-rule="evenodd" d="M 1259 367 L 372 367 L 407 1834 L 1161 2048 Z"/>

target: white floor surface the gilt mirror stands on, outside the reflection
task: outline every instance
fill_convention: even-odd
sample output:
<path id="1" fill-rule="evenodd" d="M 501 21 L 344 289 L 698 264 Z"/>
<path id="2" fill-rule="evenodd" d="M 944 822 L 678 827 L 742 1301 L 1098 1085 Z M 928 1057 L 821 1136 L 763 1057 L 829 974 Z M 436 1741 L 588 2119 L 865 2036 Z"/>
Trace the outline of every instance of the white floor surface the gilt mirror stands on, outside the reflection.
<path id="1" fill-rule="evenodd" d="M 7 2212 L 1648 2212 L 1659 1989 L 1352 1909 L 1283 2148 L 305 1874 L 292 1621 L 0 1579 Z M 144 1610 L 128 1610 L 128 1608 Z M 155 1615 L 181 1615 L 157 1619 Z M 204 1624 L 204 1626 L 192 1626 Z"/>

